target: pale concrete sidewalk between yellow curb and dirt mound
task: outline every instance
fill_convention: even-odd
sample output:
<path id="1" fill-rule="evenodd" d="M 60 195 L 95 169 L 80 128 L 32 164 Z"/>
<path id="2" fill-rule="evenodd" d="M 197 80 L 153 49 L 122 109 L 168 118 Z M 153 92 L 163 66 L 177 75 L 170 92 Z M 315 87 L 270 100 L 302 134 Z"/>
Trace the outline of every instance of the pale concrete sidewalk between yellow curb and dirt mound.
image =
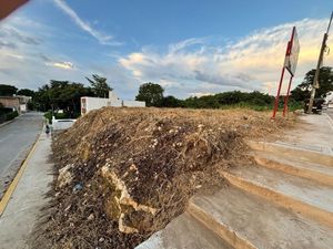
<path id="1" fill-rule="evenodd" d="M 13 191 L 3 215 L 0 217 L 0 249 L 28 248 L 27 240 L 48 203 L 46 194 L 53 179 L 51 137 L 41 134 L 36 148 L 27 159 L 27 167 Z"/>

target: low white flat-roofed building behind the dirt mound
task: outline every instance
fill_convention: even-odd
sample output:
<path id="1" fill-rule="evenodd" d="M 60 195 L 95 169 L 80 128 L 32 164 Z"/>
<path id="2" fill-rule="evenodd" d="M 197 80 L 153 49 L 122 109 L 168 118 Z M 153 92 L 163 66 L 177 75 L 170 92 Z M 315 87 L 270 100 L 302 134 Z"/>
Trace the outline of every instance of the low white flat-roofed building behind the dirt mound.
<path id="1" fill-rule="evenodd" d="M 145 107 L 145 102 L 141 101 L 122 101 L 112 91 L 109 92 L 109 98 L 103 97 L 81 97 L 81 115 L 87 114 L 92 110 L 98 110 L 103 106 L 113 107 Z"/>

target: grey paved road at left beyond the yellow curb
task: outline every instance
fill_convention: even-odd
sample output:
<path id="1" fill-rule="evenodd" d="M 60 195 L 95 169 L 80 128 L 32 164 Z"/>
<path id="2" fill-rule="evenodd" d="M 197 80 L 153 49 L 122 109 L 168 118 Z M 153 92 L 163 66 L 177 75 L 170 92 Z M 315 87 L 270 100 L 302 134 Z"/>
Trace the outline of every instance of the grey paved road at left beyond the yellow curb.
<path id="1" fill-rule="evenodd" d="M 27 113 L 0 127 L 0 198 L 37 139 L 42 123 L 41 113 Z"/>

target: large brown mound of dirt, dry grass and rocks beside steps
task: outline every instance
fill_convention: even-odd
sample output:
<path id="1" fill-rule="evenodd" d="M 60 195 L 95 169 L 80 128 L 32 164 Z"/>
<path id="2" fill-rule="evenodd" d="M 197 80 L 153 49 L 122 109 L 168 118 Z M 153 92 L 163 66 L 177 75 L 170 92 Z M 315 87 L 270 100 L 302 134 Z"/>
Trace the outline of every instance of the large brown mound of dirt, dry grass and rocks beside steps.
<path id="1" fill-rule="evenodd" d="M 284 125 L 244 110 L 90 112 L 54 138 L 53 209 L 34 248 L 133 248 L 223 185 L 218 170 L 244 157 L 245 137 Z"/>

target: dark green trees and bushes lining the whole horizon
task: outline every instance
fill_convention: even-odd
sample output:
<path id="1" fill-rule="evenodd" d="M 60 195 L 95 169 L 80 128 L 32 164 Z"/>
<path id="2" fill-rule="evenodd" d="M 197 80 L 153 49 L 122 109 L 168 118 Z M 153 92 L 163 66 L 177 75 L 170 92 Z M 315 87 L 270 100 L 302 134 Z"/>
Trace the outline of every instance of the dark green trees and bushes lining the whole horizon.
<path id="1" fill-rule="evenodd" d="M 291 91 L 289 100 L 290 111 L 303 108 L 304 101 L 310 97 L 314 73 L 315 70 L 309 71 L 303 82 Z M 80 116 L 81 96 L 108 97 L 109 91 L 113 90 L 103 76 L 93 74 L 91 77 L 85 79 L 89 86 L 79 82 L 57 80 L 51 80 L 37 91 L 29 89 L 18 90 L 12 85 L 0 85 L 0 96 L 11 96 L 13 94 L 32 96 L 32 101 L 28 103 L 29 110 L 46 112 L 46 117 L 49 120 L 51 120 L 52 115 L 57 118 L 75 118 Z M 333 91 L 332 68 L 323 66 L 319 81 L 321 87 L 316 91 L 315 97 L 325 97 L 330 91 Z M 250 93 L 231 91 L 204 96 L 190 96 L 181 100 L 172 95 L 164 96 L 164 89 L 152 82 L 140 85 L 135 100 L 144 101 L 149 107 L 250 108 L 254 111 L 270 111 L 274 103 L 274 96 L 258 91 Z M 283 107 L 283 102 L 284 96 L 281 96 L 279 101 L 280 108 Z M 62 113 L 59 113 L 59 110 L 62 110 Z M 3 115 L 3 112 L 0 115 Z M 11 115 L 9 115 L 10 117 Z"/>

